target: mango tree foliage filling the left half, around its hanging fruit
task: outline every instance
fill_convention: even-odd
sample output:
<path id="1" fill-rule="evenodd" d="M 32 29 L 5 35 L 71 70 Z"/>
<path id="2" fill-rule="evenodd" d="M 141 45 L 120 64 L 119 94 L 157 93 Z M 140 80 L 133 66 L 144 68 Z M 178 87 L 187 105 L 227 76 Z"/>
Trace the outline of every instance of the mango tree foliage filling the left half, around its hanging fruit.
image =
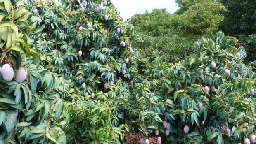
<path id="1" fill-rule="evenodd" d="M 84 13 L 77 0 L 28 0 L 12 5 L 9 0 L 0 1 L 2 64 L 14 65 L 14 72 L 25 67 L 27 72 L 25 82 L 0 82 L 0 143 L 118 144 L 129 130 L 121 112 L 128 107 L 129 79 L 137 70 L 135 61 L 125 62 L 139 56 L 128 51 L 136 40 L 134 28 L 123 22 L 111 2 L 82 2 Z M 15 14 L 19 16 L 12 19 Z M 89 22 L 92 28 L 87 27 Z M 118 27 L 123 34 L 116 32 Z M 5 33 L 8 30 L 12 41 Z M 13 49 L 15 44 L 19 49 Z M 104 88 L 110 81 L 113 86 Z"/>

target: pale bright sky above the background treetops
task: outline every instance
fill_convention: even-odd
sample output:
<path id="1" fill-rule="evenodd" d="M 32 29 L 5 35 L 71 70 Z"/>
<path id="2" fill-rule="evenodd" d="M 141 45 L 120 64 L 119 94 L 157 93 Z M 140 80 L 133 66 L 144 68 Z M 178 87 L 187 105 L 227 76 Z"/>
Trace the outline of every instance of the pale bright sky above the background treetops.
<path id="1" fill-rule="evenodd" d="M 174 13 L 178 7 L 175 0 L 111 0 L 124 20 L 134 14 L 144 14 L 147 10 L 166 8 L 169 13 Z"/>

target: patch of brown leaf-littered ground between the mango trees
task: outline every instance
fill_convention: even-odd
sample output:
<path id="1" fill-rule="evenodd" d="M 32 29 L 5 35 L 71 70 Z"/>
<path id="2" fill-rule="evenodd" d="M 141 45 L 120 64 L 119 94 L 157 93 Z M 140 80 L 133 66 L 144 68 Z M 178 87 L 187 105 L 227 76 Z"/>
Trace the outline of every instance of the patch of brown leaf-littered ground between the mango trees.
<path id="1" fill-rule="evenodd" d="M 126 133 L 126 137 L 125 137 L 123 144 L 140 144 L 141 138 L 146 139 L 146 137 L 144 135 L 142 135 L 142 133 L 140 133 L 140 132 Z M 149 138 L 149 142 L 150 142 L 150 144 L 158 144 L 157 136 L 151 136 Z"/>

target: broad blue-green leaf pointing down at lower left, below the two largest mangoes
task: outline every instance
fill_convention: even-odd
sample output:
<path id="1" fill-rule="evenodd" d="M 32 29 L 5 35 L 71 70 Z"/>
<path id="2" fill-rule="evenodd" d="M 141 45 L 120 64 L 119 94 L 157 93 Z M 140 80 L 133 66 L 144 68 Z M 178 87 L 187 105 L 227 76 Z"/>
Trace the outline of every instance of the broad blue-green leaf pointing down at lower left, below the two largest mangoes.
<path id="1" fill-rule="evenodd" d="M 6 130 L 7 132 L 10 132 L 17 121 L 17 116 L 18 116 L 18 110 L 9 110 L 7 114 L 7 119 L 6 119 Z"/>

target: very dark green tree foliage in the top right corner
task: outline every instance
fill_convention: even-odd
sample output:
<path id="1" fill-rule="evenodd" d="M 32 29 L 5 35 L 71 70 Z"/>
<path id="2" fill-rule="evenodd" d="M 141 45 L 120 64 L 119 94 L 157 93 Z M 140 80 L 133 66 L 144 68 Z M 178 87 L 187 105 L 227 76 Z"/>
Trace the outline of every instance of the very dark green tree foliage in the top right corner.
<path id="1" fill-rule="evenodd" d="M 227 9 L 220 29 L 228 35 L 252 35 L 256 31 L 256 3 L 254 0 L 219 0 Z"/>

